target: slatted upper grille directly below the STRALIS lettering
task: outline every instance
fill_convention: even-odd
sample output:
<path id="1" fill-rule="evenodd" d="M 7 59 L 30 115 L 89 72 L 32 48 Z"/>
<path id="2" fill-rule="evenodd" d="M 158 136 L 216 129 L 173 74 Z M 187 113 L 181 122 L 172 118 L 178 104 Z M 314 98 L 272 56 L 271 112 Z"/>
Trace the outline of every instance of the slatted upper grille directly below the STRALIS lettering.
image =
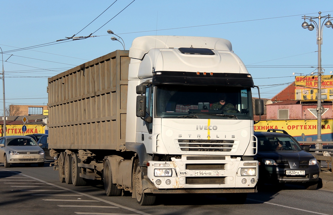
<path id="1" fill-rule="evenodd" d="M 178 140 L 181 151 L 231 152 L 234 145 L 233 140 Z"/>

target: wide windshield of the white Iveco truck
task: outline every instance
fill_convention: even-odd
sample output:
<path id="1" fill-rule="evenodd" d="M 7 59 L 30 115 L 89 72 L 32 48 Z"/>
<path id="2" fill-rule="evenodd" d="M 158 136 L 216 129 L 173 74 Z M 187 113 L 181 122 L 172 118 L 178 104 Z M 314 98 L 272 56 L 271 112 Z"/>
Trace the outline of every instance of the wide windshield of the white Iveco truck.
<path id="1" fill-rule="evenodd" d="M 222 86 L 156 86 L 156 117 L 253 120 L 251 89 Z"/>

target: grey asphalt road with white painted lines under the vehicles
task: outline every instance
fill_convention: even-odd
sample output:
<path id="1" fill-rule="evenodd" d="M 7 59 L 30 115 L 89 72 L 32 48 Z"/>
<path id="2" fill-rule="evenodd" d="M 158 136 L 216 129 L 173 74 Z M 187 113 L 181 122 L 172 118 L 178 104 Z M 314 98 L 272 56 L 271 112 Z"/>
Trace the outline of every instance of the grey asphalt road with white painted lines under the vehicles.
<path id="1" fill-rule="evenodd" d="M 58 172 L 48 166 L 4 168 L 0 164 L 0 211 L 3 215 L 120 215 L 120 214 L 330 214 L 333 192 L 305 190 L 303 186 L 285 185 L 282 190 L 267 186 L 248 195 L 243 205 L 223 203 L 215 195 L 164 195 L 156 205 L 140 206 L 130 196 L 108 197 L 102 183 L 76 187 L 60 183 Z"/>

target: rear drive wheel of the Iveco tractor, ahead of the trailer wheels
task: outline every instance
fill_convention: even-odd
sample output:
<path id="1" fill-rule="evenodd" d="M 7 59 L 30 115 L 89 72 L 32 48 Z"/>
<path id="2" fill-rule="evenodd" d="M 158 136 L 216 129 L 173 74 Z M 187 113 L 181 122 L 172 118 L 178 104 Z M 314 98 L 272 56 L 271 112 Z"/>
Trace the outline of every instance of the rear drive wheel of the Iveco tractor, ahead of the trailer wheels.
<path id="1" fill-rule="evenodd" d="M 112 171 L 110 161 L 106 160 L 103 168 L 104 189 L 107 196 L 120 196 L 122 190 L 112 183 Z"/>

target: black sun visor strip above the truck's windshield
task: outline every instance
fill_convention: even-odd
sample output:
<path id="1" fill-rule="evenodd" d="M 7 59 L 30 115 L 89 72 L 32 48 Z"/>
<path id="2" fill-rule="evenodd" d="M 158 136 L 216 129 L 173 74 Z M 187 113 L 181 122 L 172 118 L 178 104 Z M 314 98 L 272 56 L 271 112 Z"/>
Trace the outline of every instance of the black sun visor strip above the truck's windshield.
<path id="1" fill-rule="evenodd" d="M 178 71 L 160 71 L 153 75 L 153 84 L 177 84 L 177 85 L 197 85 L 197 86 L 239 86 L 254 87 L 252 77 L 248 74 L 235 73 L 213 73 L 208 72 L 204 75 L 202 72 L 178 72 Z"/>

